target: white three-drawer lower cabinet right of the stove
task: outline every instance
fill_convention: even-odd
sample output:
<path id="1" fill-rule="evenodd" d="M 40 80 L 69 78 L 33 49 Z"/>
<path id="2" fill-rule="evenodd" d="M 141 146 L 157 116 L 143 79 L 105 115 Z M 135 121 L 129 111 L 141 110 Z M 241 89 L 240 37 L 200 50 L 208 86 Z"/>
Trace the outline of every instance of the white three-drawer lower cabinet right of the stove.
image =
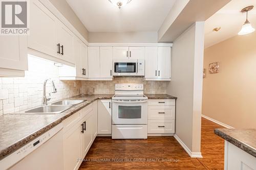
<path id="1" fill-rule="evenodd" d="M 148 100 L 147 133 L 175 133 L 175 99 Z"/>

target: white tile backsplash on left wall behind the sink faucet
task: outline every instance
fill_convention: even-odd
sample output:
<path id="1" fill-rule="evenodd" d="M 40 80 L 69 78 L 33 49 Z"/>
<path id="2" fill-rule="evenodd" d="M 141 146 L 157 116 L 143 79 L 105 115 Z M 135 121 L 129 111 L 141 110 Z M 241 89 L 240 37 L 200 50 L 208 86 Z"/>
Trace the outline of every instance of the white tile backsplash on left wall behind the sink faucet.
<path id="1" fill-rule="evenodd" d="M 0 114 L 18 112 L 20 110 L 41 105 L 43 83 L 51 78 L 57 88 L 49 102 L 69 98 L 80 94 L 81 82 L 72 86 L 74 81 L 60 81 L 58 67 L 53 62 L 37 57 L 28 57 L 29 70 L 25 77 L 0 78 Z M 47 83 L 47 96 L 52 91 L 51 82 Z"/>

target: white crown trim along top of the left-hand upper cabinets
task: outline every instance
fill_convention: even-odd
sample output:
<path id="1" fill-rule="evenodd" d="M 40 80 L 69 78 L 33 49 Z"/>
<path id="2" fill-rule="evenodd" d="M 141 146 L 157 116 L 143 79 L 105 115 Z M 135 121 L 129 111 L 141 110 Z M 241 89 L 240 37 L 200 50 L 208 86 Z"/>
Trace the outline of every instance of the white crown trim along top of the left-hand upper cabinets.
<path id="1" fill-rule="evenodd" d="M 49 11 L 51 11 L 65 26 L 67 26 L 83 43 L 88 41 L 75 29 L 75 27 L 63 16 L 49 0 L 39 0 Z"/>

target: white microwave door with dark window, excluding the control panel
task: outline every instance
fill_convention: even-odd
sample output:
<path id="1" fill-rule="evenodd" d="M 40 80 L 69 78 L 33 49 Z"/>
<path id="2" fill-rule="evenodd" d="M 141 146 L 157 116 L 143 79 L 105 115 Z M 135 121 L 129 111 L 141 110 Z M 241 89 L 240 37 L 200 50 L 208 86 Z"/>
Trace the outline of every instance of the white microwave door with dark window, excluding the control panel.
<path id="1" fill-rule="evenodd" d="M 114 61 L 113 76 L 136 76 L 137 61 Z"/>

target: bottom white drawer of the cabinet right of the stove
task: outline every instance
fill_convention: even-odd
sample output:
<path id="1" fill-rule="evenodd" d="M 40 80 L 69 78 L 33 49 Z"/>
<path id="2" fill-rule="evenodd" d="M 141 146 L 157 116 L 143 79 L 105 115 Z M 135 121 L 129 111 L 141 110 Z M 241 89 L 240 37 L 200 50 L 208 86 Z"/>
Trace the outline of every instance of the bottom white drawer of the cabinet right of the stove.
<path id="1" fill-rule="evenodd" d="M 148 120 L 147 133 L 175 133 L 175 119 Z"/>

